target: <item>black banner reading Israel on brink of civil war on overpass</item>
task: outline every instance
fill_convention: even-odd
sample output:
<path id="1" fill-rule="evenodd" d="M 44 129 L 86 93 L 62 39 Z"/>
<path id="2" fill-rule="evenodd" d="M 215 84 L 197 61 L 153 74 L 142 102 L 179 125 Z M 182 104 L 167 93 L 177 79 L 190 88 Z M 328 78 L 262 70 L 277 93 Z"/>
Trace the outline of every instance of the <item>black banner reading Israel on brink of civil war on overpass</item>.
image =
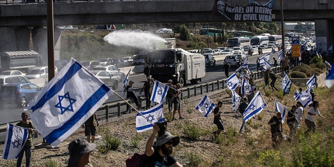
<path id="1" fill-rule="evenodd" d="M 216 16 L 224 20 L 231 21 L 263 21 L 272 22 L 273 1 L 261 5 L 255 1 L 249 0 L 247 6 L 228 6 L 225 0 L 215 0 L 213 12 Z"/>

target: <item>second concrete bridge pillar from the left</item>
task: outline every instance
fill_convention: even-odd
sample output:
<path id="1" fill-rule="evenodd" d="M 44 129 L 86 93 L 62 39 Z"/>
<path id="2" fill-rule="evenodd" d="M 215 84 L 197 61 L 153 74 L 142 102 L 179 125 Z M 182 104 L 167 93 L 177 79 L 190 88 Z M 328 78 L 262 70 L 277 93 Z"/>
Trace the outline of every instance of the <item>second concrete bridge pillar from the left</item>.
<path id="1" fill-rule="evenodd" d="M 16 48 L 18 51 L 29 50 L 30 28 L 28 27 L 15 28 L 15 39 L 16 39 Z"/>

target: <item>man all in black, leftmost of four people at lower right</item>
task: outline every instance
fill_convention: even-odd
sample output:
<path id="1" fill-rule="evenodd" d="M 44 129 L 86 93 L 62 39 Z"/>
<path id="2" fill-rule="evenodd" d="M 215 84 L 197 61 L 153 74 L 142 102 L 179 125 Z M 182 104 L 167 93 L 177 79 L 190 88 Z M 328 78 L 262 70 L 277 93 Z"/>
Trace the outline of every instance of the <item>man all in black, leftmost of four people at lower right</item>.
<path id="1" fill-rule="evenodd" d="M 268 122 L 270 125 L 270 131 L 272 133 L 273 147 L 276 147 L 279 144 L 279 141 L 276 140 L 279 137 L 279 140 L 283 139 L 282 132 L 280 127 L 282 128 L 282 114 L 277 112 L 275 116 L 273 116 Z"/>

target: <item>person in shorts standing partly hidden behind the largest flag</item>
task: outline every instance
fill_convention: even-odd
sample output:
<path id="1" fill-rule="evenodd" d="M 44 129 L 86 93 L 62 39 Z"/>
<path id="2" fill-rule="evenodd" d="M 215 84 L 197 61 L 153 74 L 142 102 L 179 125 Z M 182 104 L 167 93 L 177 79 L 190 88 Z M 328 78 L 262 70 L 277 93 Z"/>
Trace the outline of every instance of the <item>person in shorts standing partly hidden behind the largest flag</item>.
<path id="1" fill-rule="evenodd" d="M 94 143 L 95 141 L 96 126 L 100 126 L 100 124 L 96 113 L 94 113 L 85 124 L 82 125 L 82 128 L 85 128 L 85 136 L 87 136 L 88 143 Z"/>

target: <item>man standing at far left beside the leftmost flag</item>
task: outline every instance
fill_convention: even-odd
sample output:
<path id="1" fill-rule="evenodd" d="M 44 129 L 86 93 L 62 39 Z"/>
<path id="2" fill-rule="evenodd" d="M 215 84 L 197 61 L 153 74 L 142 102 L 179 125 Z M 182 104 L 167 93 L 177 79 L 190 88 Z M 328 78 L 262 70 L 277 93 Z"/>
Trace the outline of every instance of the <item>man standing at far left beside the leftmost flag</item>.
<path id="1" fill-rule="evenodd" d="M 22 121 L 16 123 L 15 125 L 23 127 L 23 128 L 28 128 L 29 134 L 28 134 L 28 139 L 25 142 L 21 152 L 19 153 L 19 155 L 17 155 L 16 167 L 21 167 L 24 152 L 25 152 L 25 166 L 30 167 L 30 157 L 31 157 L 31 147 L 32 147 L 32 132 L 36 128 L 31 121 L 28 121 L 27 112 L 23 112 L 21 114 L 21 118 L 22 118 Z"/>

